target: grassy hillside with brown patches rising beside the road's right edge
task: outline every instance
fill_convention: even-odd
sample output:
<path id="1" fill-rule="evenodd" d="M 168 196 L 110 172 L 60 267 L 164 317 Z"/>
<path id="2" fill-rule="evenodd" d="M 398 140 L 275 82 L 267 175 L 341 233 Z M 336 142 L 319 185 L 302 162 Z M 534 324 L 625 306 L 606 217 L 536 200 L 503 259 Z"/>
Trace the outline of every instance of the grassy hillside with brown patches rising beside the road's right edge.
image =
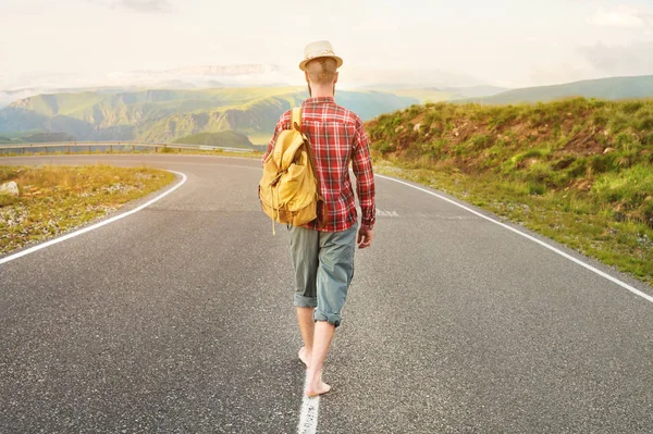
<path id="1" fill-rule="evenodd" d="M 653 101 L 415 106 L 368 129 L 406 176 L 653 282 Z"/>

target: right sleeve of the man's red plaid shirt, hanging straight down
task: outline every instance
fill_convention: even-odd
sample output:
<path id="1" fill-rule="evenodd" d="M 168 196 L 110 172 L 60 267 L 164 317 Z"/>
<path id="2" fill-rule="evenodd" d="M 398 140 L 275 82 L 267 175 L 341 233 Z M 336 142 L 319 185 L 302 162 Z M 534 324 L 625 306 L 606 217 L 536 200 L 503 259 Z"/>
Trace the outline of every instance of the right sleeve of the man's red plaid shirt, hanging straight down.
<path id="1" fill-rule="evenodd" d="M 370 144 L 365 125 L 360 119 L 356 123 L 356 135 L 352 156 L 352 169 L 356 176 L 356 193 L 362 215 L 360 225 L 362 228 L 371 230 L 377 221 L 377 207 L 374 204 L 374 173 L 372 172 L 372 158 L 370 157 Z"/>

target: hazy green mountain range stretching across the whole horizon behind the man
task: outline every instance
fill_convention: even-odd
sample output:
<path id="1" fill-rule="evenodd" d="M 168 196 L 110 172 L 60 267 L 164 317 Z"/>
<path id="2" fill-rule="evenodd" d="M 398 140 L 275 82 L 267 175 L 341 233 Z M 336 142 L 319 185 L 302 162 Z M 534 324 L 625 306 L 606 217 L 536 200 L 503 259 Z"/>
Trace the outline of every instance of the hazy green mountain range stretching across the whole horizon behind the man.
<path id="1" fill-rule="evenodd" d="M 257 66 L 186 71 L 221 77 L 266 72 Z M 556 86 L 506 90 L 470 87 L 383 85 L 383 90 L 336 92 L 340 104 L 365 121 L 424 102 L 528 103 L 567 97 L 632 99 L 653 97 L 653 76 L 615 77 Z M 301 87 L 220 87 L 211 89 L 91 88 L 42 94 L 0 110 L 0 141 L 27 141 L 48 134 L 53 140 L 137 140 L 149 142 L 227 142 L 251 147 L 266 144 L 279 116 L 308 97 Z M 217 133 L 233 132 L 231 135 Z M 35 134 L 37 134 L 35 136 Z"/>

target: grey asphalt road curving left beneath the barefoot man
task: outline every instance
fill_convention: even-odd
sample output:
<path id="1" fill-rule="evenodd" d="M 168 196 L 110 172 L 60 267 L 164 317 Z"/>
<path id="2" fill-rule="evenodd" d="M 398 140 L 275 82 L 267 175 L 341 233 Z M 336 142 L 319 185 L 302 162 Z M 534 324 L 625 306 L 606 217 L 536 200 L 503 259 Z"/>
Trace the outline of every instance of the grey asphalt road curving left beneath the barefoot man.
<path id="1" fill-rule="evenodd" d="M 0 432 L 297 432 L 288 238 L 260 211 L 260 165 L 0 163 L 44 161 L 188 181 L 0 265 Z M 653 303 L 423 191 L 377 185 L 377 238 L 357 252 L 319 433 L 653 432 Z"/>

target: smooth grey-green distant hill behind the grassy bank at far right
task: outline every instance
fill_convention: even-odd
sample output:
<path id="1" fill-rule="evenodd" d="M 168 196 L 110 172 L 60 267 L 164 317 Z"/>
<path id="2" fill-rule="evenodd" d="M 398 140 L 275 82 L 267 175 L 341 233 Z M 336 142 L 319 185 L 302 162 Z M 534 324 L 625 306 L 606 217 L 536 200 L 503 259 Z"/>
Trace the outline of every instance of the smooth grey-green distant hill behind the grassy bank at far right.
<path id="1" fill-rule="evenodd" d="M 569 97 L 608 100 L 651 98 L 653 97 L 653 75 L 588 79 L 555 86 L 527 87 L 490 97 L 471 98 L 463 102 L 514 104 L 520 102 L 547 102 Z"/>

